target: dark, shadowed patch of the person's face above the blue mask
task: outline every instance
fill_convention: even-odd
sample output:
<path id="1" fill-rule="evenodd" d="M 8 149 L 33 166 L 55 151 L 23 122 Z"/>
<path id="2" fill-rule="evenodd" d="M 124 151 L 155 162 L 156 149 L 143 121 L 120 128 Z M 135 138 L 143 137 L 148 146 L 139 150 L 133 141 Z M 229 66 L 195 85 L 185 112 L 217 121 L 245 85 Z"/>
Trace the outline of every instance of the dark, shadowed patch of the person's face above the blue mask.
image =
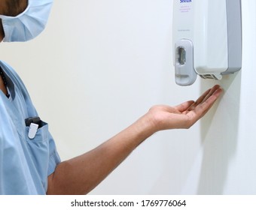
<path id="1" fill-rule="evenodd" d="M 28 0 L 6 0 L 6 7 L 4 14 L 15 17 L 27 7 Z"/>

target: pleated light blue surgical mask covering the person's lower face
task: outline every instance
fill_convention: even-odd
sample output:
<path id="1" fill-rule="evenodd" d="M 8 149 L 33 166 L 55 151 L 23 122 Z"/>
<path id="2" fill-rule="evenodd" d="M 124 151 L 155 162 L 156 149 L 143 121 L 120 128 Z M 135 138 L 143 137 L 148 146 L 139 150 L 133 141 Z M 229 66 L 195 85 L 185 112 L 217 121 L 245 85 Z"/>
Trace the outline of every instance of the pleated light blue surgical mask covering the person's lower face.
<path id="1" fill-rule="evenodd" d="M 44 30 L 53 0 L 28 0 L 28 6 L 17 17 L 0 15 L 5 31 L 3 41 L 32 40 Z"/>

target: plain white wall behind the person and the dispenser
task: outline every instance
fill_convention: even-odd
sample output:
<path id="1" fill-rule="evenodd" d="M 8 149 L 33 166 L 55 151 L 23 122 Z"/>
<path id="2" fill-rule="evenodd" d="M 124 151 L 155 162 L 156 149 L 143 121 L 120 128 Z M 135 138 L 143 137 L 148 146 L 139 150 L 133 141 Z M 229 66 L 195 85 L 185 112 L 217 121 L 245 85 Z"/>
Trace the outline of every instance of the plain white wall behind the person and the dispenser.
<path id="1" fill-rule="evenodd" d="M 243 63 L 221 101 L 190 130 L 151 136 L 93 194 L 256 193 L 256 1 L 242 0 Z M 215 84 L 176 86 L 172 1 L 55 1 L 29 43 L 1 43 L 62 160 L 99 145 L 154 104 L 179 104 Z"/>

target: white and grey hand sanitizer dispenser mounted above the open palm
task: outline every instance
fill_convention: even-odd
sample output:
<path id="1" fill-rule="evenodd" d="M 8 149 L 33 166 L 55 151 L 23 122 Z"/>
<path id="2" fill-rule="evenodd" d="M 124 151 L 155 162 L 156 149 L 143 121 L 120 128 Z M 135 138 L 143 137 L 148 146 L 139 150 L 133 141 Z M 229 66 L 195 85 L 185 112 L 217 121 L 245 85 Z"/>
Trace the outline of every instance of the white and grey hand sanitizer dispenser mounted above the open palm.
<path id="1" fill-rule="evenodd" d="M 173 0 L 175 82 L 221 80 L 242 67 L 241 0 Z"/>

